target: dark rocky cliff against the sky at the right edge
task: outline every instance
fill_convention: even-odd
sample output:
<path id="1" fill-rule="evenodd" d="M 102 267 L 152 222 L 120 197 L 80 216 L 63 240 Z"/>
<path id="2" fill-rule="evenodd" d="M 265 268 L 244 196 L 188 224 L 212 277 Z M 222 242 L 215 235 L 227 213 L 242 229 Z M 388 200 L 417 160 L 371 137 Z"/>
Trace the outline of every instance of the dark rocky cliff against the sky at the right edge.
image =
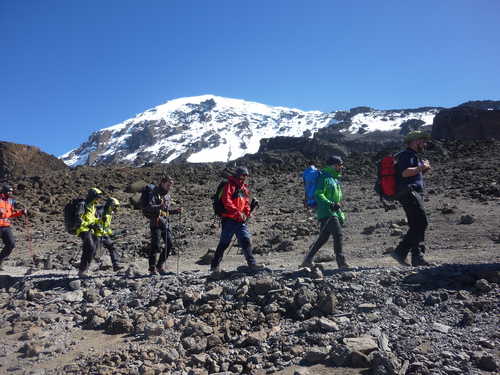
<path id="1" fill-rule="evenodd" d="M 500 101 L 467 102 L 445 109 L 434 118 L 437 139 L 500 139 Z"/>

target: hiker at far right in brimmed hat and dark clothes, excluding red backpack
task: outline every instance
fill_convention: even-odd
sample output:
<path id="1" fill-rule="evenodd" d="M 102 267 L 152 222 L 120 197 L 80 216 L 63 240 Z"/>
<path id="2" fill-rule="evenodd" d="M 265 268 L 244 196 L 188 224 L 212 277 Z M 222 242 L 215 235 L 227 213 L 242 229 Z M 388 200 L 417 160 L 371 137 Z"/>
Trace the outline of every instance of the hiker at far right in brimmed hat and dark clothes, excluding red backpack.
<path id="1" fill-rule="evenodd" d="M 423 175 L 431 169 L 431 166 L 429 161 L 419 156 L 425 150 L 426 141 L 429 138 L 429 135 L 422 131 L 408 133 L 405 137 L 407 148 L 397 157 L 396 197 L 406 213 L 409 229 L 396 249 L 389 255 L 404 266 L 410 265 L 406 261 L 409 252 L 411 252 L 412 266 L 429 265 L 424 259 L 424 239 L 428 222 L 423 205 Z"/>

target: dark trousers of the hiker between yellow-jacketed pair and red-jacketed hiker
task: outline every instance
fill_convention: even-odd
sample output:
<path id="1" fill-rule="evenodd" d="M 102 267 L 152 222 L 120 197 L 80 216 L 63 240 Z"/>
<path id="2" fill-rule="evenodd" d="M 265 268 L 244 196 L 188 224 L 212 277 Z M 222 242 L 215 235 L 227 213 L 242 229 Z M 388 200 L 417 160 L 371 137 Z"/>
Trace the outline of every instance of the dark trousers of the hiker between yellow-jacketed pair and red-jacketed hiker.
<path id="1" fill-rule="evenodd" d="M 162 268 L 172 251 L 172 233 L 170 224 L 165 218 L 151 219 L 149 229 L 151 230 L 151 246 L 149 248 L 149 270 Z M 163 239 L 164 246 L 161 246 Z M 159 256 L 158 256 L 159 255 Z"/>

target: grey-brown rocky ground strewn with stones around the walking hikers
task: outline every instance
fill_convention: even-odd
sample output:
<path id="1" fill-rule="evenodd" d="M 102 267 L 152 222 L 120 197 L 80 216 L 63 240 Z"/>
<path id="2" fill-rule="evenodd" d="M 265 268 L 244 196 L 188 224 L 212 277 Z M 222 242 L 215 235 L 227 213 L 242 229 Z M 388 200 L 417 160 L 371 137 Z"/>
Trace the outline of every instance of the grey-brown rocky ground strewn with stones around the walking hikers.
<path id="1" fill-rule="evenodd" d="M 427 259 L 402 268 L 383 253 L 406 231 L 401 208 L 373 194 L 374 160 L 347 159 L 345 251 L 328 244 L 298 269 L 318 233 L 302 206 L 300 154 L 247 157 L 261 206 L 250 221 L 263 272 L 239 249 L 213 280 L 207 258 L 219 227 L 210 195 L 223 166 L 77 168 L 13 182 L 32 215 L 14 224 L 18 247 L 0 282 L 0 373 L 7 374 L 489 374 L 500 366 L 500 143 L 435 143 L 428 156 Z M 127 203 L 134 183 L 162 173 L 184 212 L 172 217 L 178 255 L 147 276 L 147 221 Z M 139 183 L 138 185 L 141 185 Z M 78 279 L 78 238 L 62 207 L 98 186 L 124 204 L 114 220 L 125 272 L 99 254 Z"/>

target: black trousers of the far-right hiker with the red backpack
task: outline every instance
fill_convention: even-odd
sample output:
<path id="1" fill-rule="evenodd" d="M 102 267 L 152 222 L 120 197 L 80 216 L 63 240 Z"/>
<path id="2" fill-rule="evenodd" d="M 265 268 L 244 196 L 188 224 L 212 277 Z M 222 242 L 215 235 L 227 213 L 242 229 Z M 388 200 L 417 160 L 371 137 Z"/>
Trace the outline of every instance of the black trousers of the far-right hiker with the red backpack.
<path id="1" fill-rule="evenodd" d="M 409 191 L 399 198 L 408 221 L 408 232 L 398 244 L 396 251 L 405 258 L 411 251 L 412 257 L 422 257 L 425 251 L 425 230 L 428 221 L 425 213 L 422 194 Z"/>

